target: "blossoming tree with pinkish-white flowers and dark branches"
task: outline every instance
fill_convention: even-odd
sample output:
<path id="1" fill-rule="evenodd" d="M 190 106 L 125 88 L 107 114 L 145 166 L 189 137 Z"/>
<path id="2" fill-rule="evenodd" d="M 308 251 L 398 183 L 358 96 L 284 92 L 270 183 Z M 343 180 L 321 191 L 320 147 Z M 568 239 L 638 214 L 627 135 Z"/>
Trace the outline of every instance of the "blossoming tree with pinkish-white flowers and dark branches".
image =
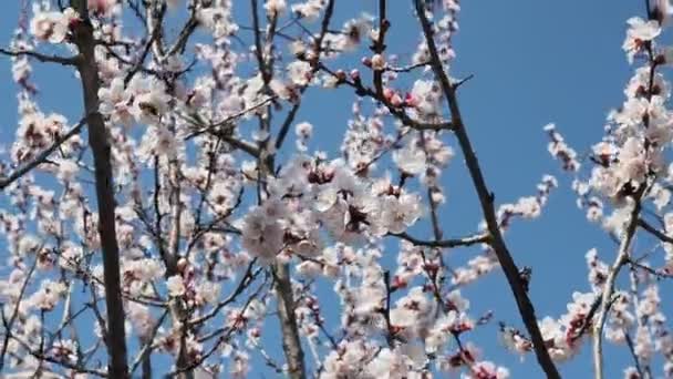
<path id="1" fill-rule="evenodd" d="M 589 250 L 590 289 L 543 318 L 504 234 L 540 215 L 556 178 L 496 202 L 458 103 L 470 78 L 449 70 L 457 0 L 404 2 L 420 37 L 408 59 L 386 39 L 403 1 L 372 2 L 375 14 L 338 24 L 336 0 L 23 1 L 0 48 L 19 89 L 0 166 L 3 377 L 239 378 L 262 362 L 290 378 L 507 378 L 472 341 L 494 315 L 462 295 L 494 270 L 520 315 L 498 337 L 547 377 L 590 349 L 603 378 L 603 339 L 629 349 L 628 378 L 673 377 L 658 286 L 673 275 L 667 0 L 628 21 L 634 75 L 603 140 L 580 157 L 545 127 L 615 248 L 611 263 Z M 80 120 L 41 110 L 34 64 L 75 75 Z M 353 114 L 334 155 L 310 148 L 327 126 L 297 115 L 336 88 Z M 447 238 L 454 156 L 483 222 Z M 410 231 L 423 223 L 432 238 Z M 636 234 L 655 247 L 639 254 Z"/>

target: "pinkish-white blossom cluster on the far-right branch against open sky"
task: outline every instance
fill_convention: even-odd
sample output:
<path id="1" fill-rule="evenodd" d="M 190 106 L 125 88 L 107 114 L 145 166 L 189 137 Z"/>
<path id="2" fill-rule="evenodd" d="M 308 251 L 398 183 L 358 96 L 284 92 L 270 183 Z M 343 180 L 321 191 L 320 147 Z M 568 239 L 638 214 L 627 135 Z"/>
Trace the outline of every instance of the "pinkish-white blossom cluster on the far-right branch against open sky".
<path id="1" fill-rule="evenodd" d="M 591 146 L 588 177 L 580 176 L 572 184 L 578 206 L 586 209 L 587 218 L 620 242 L 617 260 L 608 265 L 597 249 L 589 250 L 592 293 L 576 293 L 567 315 L 558 321 L 546 318 L 541 324 L 545 339 L 550 342 L 549 351 L 559 360 L 574 356 L 587 335 L 592 335 L 594 356 L 597 351 L 600 356 L 602 338 L 628 345 L 635 366 L 624 370 L 625 378 L 652 376 L 658 354 L 664 357 L 663 375 L 671 372 L 670 335 L 660 309 L 658 286 L 658 279 L 667 277 L 671 256 L 666 253 L 663 265 L 656 267 L 650 254 L 639 256 L 638 249 L 630 246 L 642 228 L 658 239 L 656 248 L 671 248 L 665 221 L 672 214 L 666 156 L 673 142 L 673 112 L 669 109 L 671 84 L 660 70 L 669 62 L 670 48 L 659 44 L 670 14 L 669 1 L 649 1 L 648 19 L 634 17 L 627 21 L 622 48 L 629 63 L 643 63 L 634 69 L 624 89 L 623 104 L 608 115 L 604 137 Z M 577 153 L 552 124 L 545 130 L 551 140 L 549 152 L 565 170 L 580 173 Z M 651 216 L 661 221 L 663 232 L 656 231 L 645 216 L 643 209 L 650 205 Z M 630 287 L 619 289 L 615 278 L 624 267 L 630 269 Z M 600 359 L 594 361 L 594 367 L 601 365 Z"/>

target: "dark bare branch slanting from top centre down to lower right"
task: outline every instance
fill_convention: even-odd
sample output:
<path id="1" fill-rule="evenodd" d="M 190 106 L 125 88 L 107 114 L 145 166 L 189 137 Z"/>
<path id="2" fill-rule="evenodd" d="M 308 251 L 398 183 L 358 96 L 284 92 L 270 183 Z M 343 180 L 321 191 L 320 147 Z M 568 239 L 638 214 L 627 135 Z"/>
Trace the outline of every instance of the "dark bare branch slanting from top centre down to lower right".
<path id="1" fill-rule="evenodd" d="M 542 334 L 540 332 L 540 329 L 538 327 L 538 320 L 535 315 L 535 308 L 530 301 L 530 298 L 528 297 L 524 284 L 519 278 L 519 270 L 517 268 L 517 265 L 515 264 L 507 248 L 507 245 L 503 239 L 503 235 L 500 234 L 500 228 L 498 226 L 498 221 L 494 207 L 494 195 L 486 185 L 486 180 L 484 178 L 484 174 L 482 173 L 477 156 L 472 146 L 469 136 L 467 135 L 467 131 L 465 124 L 463 123 L 463 117 L 460 115 L 460 107 L 458 106 L 456 89 L 451 83 L 448 75 L 444 71 L 444 65 L 442 64 L 439 54 L 437 52 L 437 47 L 433 38 L 433 27 L 425 14 L 424 3 L 422 0 L 415 0 L 414 4 L 416 8 L 416 14 L 418 17 L 418 20 L 421 21 L 423 34 L 425 35 L 425 40 L 427 42 L 427 48 L 431 55 L 431 65 L 433 68 L 436 79 L 442 85 L 442 91 L 446 96 L 446 101 L 451 110 L 453 130 L 456 134 L 458 144 L 465 157 L 465 162 L 469 171 L 469 176 L 472 177 L 473 185 L 479 197 L 479 204 L 482 206 L 482 212 L 484 214 L 488 232 L 493 237 L 490 240 L 490 245 L 493 246 L 498 262 L 503 267 L 503 272 L 505 273 L 507 281 L 509 283 L 514 297 L 517 301 L 517 306 L 519 308 L 519 314 L 524 320 L 524 324 L 526 325 L 526 329 L 531 336 L 538 363 L 540 365 L 548 378 L 560 378 L 556 365 L 551 360 L 549 351 L 545 346 L 545 339 L 542 338 Z"/>

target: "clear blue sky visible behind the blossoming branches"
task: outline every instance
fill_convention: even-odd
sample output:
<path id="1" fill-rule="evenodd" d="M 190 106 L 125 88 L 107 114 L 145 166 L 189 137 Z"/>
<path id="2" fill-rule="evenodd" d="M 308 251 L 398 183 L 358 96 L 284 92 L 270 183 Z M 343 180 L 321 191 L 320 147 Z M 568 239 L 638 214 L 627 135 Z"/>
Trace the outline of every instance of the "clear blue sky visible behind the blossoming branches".
<path id="1" fill-rule="evenodd" d="M 15 25 L 17 3 L 3 3 L 0 41 L 4 42 L 0 45 L 7 45 Z M 373 0 L 338 1 L 334 24 L 341 24 L 360 9 L 376 14 L 374 6 Z M 420 38 L 418 25 L 411 18 L 412 2 L 391 0 L 390 8 L 390 51 L 408 58 Z M 534 222 L 517 222 L 507 234 L 517 264 L 534 268 L 530 296 L 538 317 L 558 317 L 566 311 L 573 290 L 588 291 L 590 288 L 586 252 L 597 247 L 599 256 L 611 263 L 615 248 L 576 207 L 569 188 L 572 178 L 561 173 L 549 156 L 542 126 L 557 123 L 579 153 L 600 140 L 605 115 L 621 104 L 622 89 L 630 79 L 631 69 L 621 50 L 625 20 L 643 14 L 644 6 L 636 0 L 473 0 L 464 1 L 462 8 L 460 32 L 454 40 L 457 59 L 452 74 L 457 78 L 475 75 L 462 86 L 459 100 L 496 202 L 514 202 L 519 196 L 535 194 L 536 184 L 543 174 L 560 180 L 560 188 L 551 194 L 543 215 Z M 72 74 L 39 63 L 35 69 L 43 110 L 66 114 L 74 122 L 81 114 L 81 95 Z M 8 145 L 14 134 L 17 112 L 10 64 L 4 58 L 0 58 L 0 143 Z M 352 100 L 353 94 L 346 89 L 310 90 L 297 120 L 314 124 L 312 146 L 338 151 L 334 141 L 341 141 L 351 115 Z M 448 140 L 455 146 L 453 139 Z M 291 146 L 290 143 L 287 146 Z M 444 183 L 448 197 L 441 214 L 445 235 L 473 232 L 482 217 L 459 155 L 445 172 Z M 427 227 L 415 231 L 418 237 L 428 237 L 431 233 Z M 636 248 L 649 246 L 635 243 Z M 449 253 L 448 262 L 459 264 L 474 253 L 469 249 Z M 662 286 L 663 299 L 671 295 L 669 287 Z M 496 272 L 468 287 L 465 294 L 472 301 L 473 315 L 487 309 L 496 311 L 495 321 L 475 334 L 486 357 L 507 366 L 514 378 L 541 377 L 534 356 L 520 361 L 497 341 L 497 320 L 521 326 L 501 273 Z M 328 306 L 325 311 L 335 309 Z M 279 349 L 280 346 L 270 351 L 279 357 Z M 620 377 L 621 370 L 632 363 L 625 347 L 609 348 L 607 355 L 609 378 Z M 561 365 L 560 369 L 565 377 L 589 377 L 588 346 L 581 356 Z M 265 375 L 261 371 L 259 373 Z M 273 376 L 267 372 L 266 377 Z"/>

